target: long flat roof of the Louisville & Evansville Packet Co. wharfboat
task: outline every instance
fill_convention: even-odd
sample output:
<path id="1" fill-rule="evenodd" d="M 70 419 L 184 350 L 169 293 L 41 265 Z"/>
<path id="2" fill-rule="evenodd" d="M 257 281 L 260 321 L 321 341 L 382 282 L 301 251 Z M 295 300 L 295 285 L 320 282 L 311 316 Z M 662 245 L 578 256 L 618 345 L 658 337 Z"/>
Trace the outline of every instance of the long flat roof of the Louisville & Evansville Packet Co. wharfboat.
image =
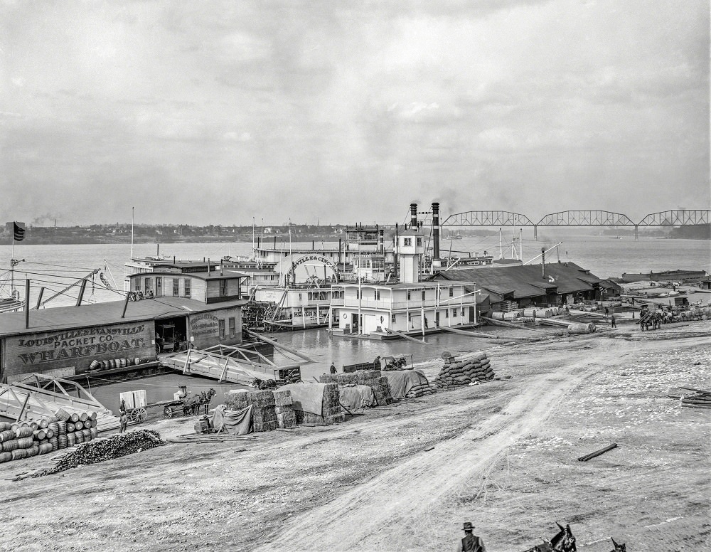
<path id="1" fill-rule="evenodd" d="M 0 314 L 0 336 L 141 322 L 190 312 L 210 312 L 246 303 L 244 299 L 205 304 L 185 297 L 156 297 L 129 301 L 124 318 L 121 318 L 123 301 L 86 304 L 82 307 L 53 307 L 31 310 L 29 328 L 25 328 L 24 312 L 7 312 Z"/>

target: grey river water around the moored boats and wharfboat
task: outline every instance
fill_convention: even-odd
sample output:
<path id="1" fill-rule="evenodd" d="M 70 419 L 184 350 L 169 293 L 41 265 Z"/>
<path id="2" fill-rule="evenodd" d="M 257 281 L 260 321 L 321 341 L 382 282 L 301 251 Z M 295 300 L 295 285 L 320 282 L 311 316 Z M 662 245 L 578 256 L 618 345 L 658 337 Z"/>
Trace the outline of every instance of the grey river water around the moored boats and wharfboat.
<path id="1" fill-rule="evenodd" d="M 707 240 L 668 240 L 659 238 L 641 238 L 634 241 L 632 238 L 611 239 L 603 236 L 571 235 L 552 233 L 547 229 L 545 238 L 537 242 L 525 241 L 523 258 L 529 259 L 540 253 L 541 248 L 550 248 L 555 243 L 562 241 L 558 251 L 547 253 L 547 262 L 555 262 L 558 258 L 562 261 L 575 262 L 588 268 L 599 277 L 619 276 L 622 272 L 648 272 L 653 270 L 706 270 L 711 272 L 711 242 Z M 498 237 L 464 238 L 462 240 L 444 241 L 442 252 L 452 250 L 465 250 L 469 252 L 488 253 L 498 257 Z M 293 244 L 294 247 L 311 246 L 308 244 Z M 316 244 L 316 248 L 321 246 Z M 326 243 L 326 246 L 337 247 L 338 243 Z M 288 243 L 284 246 L 288 249 Z M 506 245 L 504 244 L 506 256 Z M 134 256 L 156 254 L 156 244 L 134 244 Z M 216 260 L 223 255 L 249 255 L 252 251 L 251 243 L 173 243 L 161 245 L 161 253 L 176 255 L 178 259 L 198 260 L 210 258 Z M 89 244 L 89 245 L 22 245 L 15 246 L 16 259 L 23 259 L 16 267 L 16 280 L 30 278 L 31 303 L 36 302 L 39 289 L 47 289 L 43 299 L 50 297 L 53 292 L 58 292 L 66 285 L 86 275 L 95 268 L 102 269 L 109 282 L 115 280 L 118 290 L 123 289 L 124 262 L 130 257 L 131 247 L 124 244 Z M 508 249 L 510 254 L 510 247 Z M 9 265 L 11 247 L 0 246 L 0 263 Z M 540 262 L 540 261 L 539 261 Z M 485 270 L 485 269 L 484 269 Z M 1 276 L 0 276 L 1 277 Z M 98 282 L 98 280 L 97 280 Z M 24 282 L 18 282 L 23 286 Z M 6 292 L 7 288 L 1 290 Z M 5 294 L 5 293 L 2 293 Z M 68 294 L 60 295 L 53 299 L 48 306 L 74 304 L 77 297 L 77 288 Z M 121 294 L 100 287 L 87 287 L 85 299 L 91 301 L 111 301 L 121 299 Z M 372 361 L 375 356 L 388 354 L 405 354 L 412 356 L 412 360 L 422 361 L 434 359 L 449 351 L 456 354 L 458 351 L 471 351 L 476 349 L 476 339 L 454 334 L 433 334 L 427 336 L 428 346 L 422 346 L 412 341 L 368 341 L 332 338 L 325 329 L 284 332 L 269 334 L 278 341 L 303 351 L 314 361 L 313 364 L 304 366 L 301 373 L 304 380 L 312 381 L 328 370 L 333 361 L 336 366 L 343 364 Z M 277 359 L 278 360 L 278 359 Z M 213 405 L 221 400 L 222 393 L 236 386 L 218 386 L 214 381 L 187 376 L 166 375 L 141 378 L 139 381 L 125 381 L 107 386 L 92 388 L 95 396 L 109 408 L 115 408 L 118 402 L 118 393 L 145 389 L 149 403 L 160 400 L 169 400 L 177 391 L 179 383 L 185 383 L 193 392 L 207 391 L 210 387 L 218 390 L 218 396 L 213 399 Z"/>

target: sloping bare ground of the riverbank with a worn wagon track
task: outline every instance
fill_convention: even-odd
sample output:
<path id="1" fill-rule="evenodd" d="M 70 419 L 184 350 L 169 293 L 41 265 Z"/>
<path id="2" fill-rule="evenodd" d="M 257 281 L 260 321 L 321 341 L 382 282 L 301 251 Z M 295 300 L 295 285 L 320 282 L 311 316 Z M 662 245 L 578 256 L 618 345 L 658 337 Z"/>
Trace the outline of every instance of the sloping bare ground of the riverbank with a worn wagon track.
<path id="1" fill-rule="evenodd" d="M 555 521 L 582 551 L 608 552 L 610 536 L 630 552 L 711 549 L 711 411 L 665 396 L 711 388 L 711 322 L 486 352 L 501 380 L 339 425 L 169 444 L 21 481 L 9 479 L 50 458 L 7 462 L 0 549 L 430 551 L 451 549 L 463 521 L 490 552 L 540 543 Z M 422 367 L 434 376 L 441 363 Z M 193 421 L 148 427 L 170 437 Z"/>

